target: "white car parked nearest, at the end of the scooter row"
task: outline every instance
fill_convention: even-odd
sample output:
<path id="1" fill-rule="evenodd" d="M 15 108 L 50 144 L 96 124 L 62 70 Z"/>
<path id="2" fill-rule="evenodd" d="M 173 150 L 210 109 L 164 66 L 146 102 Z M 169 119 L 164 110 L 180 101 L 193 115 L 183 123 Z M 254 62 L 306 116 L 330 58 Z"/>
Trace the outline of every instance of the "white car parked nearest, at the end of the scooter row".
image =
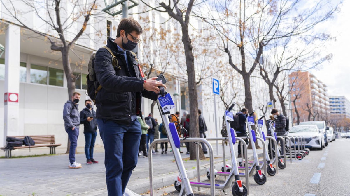
<path id="1" fill-rule="evenodd" d="M 289 130 L 288 136 L 303 136 L 305 138 L 306 148 L 318 150 L 323 150 L 324 148 L 323 133 L 316 125 L 294 126 Z"/>

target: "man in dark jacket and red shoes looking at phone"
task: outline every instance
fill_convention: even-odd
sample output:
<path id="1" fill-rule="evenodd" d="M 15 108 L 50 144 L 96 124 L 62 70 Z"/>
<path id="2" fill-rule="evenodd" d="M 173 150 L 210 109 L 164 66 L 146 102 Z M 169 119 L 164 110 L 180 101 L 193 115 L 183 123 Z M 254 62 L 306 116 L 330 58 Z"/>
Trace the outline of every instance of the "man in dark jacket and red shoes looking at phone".
<path id="1" fill-rule="evenodd" d="M 86 164 L 91 165 L 98 163 L 93 158 L 93 147 L 95 146 L 97 136 L 97 121 L 96 112 L 92 108 L 92 101 L 90 99 L 85 100 L 85 106 L 80 111 L 80 124 L 84 124 Z"/>

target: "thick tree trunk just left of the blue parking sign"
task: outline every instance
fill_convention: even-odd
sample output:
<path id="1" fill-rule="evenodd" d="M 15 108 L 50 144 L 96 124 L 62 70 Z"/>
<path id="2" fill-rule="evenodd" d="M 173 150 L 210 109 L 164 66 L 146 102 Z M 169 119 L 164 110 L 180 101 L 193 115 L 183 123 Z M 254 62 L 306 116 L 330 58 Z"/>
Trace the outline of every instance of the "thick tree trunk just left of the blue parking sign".
<path id="1" fill-rule="evenodd" d="M 197 86 L 196 86 L 196 75 L 194 69 L 194 56 L 192 52 L 191 39 L 188 35 L 188 25 L 182 24 L 182 42 L 184 46 L 184 52 L 186 57 L 186 67 L 188 76 L 188 91 L 190 99 L 190 137 L 199 137 L 198 127 L 198 98 L 197 98 Z M 196 159 L 196 145 L 190 142 L 190 160 Z M 203 150 L 199 151 L 200 159 L 205 159 Z"/>

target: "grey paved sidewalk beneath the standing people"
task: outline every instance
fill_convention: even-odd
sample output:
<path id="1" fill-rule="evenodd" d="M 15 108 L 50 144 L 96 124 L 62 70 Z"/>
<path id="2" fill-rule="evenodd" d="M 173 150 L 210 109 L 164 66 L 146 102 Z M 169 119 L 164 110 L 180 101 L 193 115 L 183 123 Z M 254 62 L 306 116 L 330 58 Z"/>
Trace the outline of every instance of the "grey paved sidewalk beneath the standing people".
<path id="1" fill-rule="evenodd" d="M 221 143 L 221 142 L 220 142 Z M 212 143 L 216 155 L 215 143 Z M 219 151 L 221 145 L 219 145 Z M 41 150 L 40 150 L 41 149 Z M 183 147 L 182 151 L 186 148 Z M 29 151 L 14 151 L 13 155 L 45 154 L 48 149 L 37 148 Z M 57 149 L 57 152 L 65 149 Z M 83 148 L 78 148 L 82 152 Z M 41 153 L 40 153 L 41 152 Z M 226 159 L 229 157 L 229 148 L 225 148 Z M 261 153 L 261 150 L 258 150 Z M 5 153 L 1 152 L 0 156 Z M 222 152 L 215 156 L 215 162 L 220 169 L 222 165 Z M 249 154 L 249 153 L 248 153 Z M 196 176 L 196 161 L 189 160 L 189 155 L 182 154 L 184 165 L 189 177 Z M 99 164 L 86 165 L 85 154 L 76 154 L 80 169 L 69 169 L 68 155 L 57 154 L 42 157 L 0 159 L 0 195 L 107 195 L 104 167 L 103 148 L 96 148 L 94 158 Z M 230 161 L 229 161 L 230 163 Z M 174 183 L 177 167 L 172 152 L 168 154 L 156 153 L 153 155 L 154 187 L 161 188 Z M 209 167 L 209 159 L 200 161 L 201 175 Z M 128 188 L 135 193 L 146 193 L 149 190 L 148 158 L 139 158 L 138 165 L 133 172 Z"/>

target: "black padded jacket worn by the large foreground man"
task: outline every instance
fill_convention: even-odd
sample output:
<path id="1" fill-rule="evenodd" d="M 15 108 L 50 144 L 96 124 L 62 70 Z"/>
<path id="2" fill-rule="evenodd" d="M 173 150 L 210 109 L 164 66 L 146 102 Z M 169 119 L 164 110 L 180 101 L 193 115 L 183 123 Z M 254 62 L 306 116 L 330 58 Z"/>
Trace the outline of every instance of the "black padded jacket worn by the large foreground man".
<path id="1" fill-rule="evenodd" d="M 117 57 L 118 66 L 113 68 L 112 56 L 105 48 L 100 48 L 95 56 L 94 66 L 98 80 L 96 86 L 102 85 L 96 95 L 96 117 L 129 125 L 132 115 L 142 113 L 142 96 L 156 100 L 157 94 L 144 90 L 144 80 L 135 56 L 126 51 L 127 66 L 124 55 L 113 41 L 114 39 L 109 38 L 106 46 Z"/>

